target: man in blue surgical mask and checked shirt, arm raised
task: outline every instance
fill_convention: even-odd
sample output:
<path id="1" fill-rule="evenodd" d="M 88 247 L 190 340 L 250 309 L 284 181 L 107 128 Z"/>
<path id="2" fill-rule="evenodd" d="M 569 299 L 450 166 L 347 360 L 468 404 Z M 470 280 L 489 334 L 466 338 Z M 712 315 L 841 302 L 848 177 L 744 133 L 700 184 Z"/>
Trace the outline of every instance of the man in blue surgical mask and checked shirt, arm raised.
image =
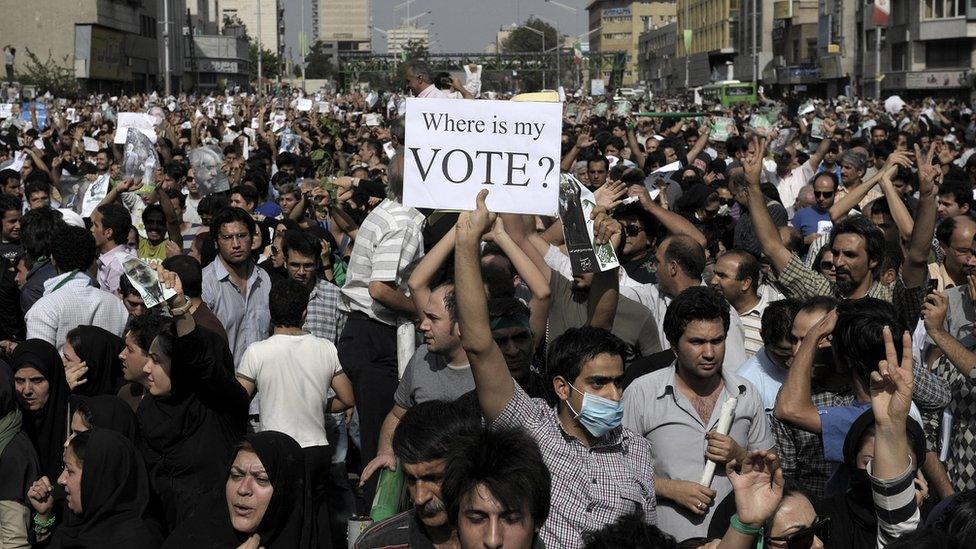
<path id="1" fill-rule="evenodd" d="M 461 345 L 471 363 L 482 415 L 492 429 L 522 427 L 552 473 L 546 547 L 580 548 L 585 531 L 637 513 L 657 522 L 650 444 L 621 427 L 627 347 L 599 328 L 570 328 L 549 345 L 547 390 L 554 407 L 533 399 L 509 374 L 492 337 L 479 249 L 493 223 L 484 195 L 463 212 L 455 243 L 455 293 Z M 615 277 L 616 275 L 614 275 Z"/>

